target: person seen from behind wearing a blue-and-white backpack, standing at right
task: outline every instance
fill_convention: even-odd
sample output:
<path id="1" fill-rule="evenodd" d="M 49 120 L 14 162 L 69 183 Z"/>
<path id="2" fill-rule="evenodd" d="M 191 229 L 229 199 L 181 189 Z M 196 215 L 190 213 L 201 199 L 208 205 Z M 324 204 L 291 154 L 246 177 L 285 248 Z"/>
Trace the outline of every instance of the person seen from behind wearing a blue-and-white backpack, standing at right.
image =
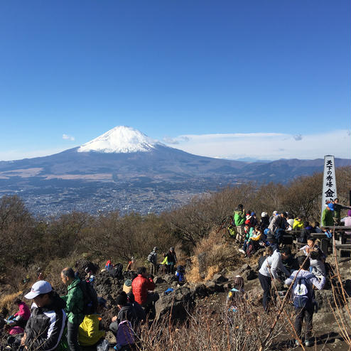
<path id="1" fill-rule="evenodd" d="M 312 346 L 313 340 L 311 339 L 312 334 L 312 320 L 315 309 L 314 291 L 313 286 L 318 290 L 323 289 L 325 284 L 325 277 L 322 277 L 321 281 L 311 274 L 308 269 L 310 267 L 310 259 L 305 256 L 298 257 L 298 264 L 301 268 L 300 271 L 293 271 L 291 276 L 286 279 L 285 284 L 290 286 L 293 284 L 292 296 L 293 306 L 295 306 L 295 330 L 298 338 L 301 339 L 301 330 L 303 319 L 306 321 L 306 338 L 305 345 Z M 295 279 L 296 277 L 296 279 Z M 295 281 L 294 281 L 295 279 Z M 293 283 L 294 281 L 294 283 Z M 296 345 L 300 345 L 296 340 Z"/>

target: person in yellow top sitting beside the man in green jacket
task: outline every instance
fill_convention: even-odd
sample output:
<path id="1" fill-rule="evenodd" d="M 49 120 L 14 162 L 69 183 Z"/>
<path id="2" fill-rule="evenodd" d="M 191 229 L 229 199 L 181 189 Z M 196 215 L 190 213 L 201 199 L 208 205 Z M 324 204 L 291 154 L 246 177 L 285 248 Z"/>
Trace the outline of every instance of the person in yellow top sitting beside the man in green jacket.
<path id="1" fill-rule="evenodd" d="M 104 338 L 105 332 L 102 330 L 100 313 L 106 307 L 106 300 L 102 297 L 97 298 L 97 313 L 85 315 L 80 323 L 78 330 L 78 340 L 80 346 L 87 347 L 99 344 Z"/>

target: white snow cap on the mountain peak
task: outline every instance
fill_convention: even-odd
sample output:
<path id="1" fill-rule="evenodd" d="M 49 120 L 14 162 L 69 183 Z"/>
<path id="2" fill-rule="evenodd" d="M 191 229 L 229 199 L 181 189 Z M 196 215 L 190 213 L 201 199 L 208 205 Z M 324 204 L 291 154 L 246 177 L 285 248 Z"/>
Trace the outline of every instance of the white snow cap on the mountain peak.
<path id="1" fill-rule="evenodd" d="M 116 126 L 106 133 L 88 141 L 78 152 L 97 151 L 102 153 L 146 152 L 162 145 L 130 126 Z"/>

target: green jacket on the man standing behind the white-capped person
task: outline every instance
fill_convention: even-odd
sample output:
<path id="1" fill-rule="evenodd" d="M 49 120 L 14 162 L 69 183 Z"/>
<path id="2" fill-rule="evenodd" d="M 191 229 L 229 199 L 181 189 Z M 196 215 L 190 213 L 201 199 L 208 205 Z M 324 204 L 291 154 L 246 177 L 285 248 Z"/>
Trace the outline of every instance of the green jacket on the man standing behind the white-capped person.
<path id="1" fill-rule="evenodd" d="M 65 311 L 67 313 L 68 322 L 72 324 L 80 324 L 84 319 L 84 296 L 82 289 L 79 286 L 80 279 L 76 278 L 68 286 L 68 294 L 62 296 L 66 302 Z"/>

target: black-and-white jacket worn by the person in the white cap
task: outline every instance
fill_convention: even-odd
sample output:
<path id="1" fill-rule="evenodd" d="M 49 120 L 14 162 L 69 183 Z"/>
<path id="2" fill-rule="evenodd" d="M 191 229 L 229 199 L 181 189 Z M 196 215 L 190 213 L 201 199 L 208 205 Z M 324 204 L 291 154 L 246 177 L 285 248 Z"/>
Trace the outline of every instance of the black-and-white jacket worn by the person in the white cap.
<path id="1" fill-rule="evenodd" d="M 58 347 L 65 329 L 65 301 L 53 296 L 50 306 L 38 307 L 33 303 L 31 317 L 26 325 L 26 346 L 28 350 L 53 351 Z"/>

